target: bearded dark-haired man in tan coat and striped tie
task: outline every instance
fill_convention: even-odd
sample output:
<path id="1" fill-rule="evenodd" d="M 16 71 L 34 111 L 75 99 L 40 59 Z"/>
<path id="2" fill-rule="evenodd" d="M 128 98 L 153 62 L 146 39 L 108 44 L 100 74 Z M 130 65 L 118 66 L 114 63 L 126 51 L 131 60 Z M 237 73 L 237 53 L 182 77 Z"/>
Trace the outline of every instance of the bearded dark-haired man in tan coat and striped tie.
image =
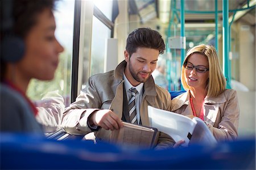
<path id="1" fill-rule="evenodd" d="M 115 71 L 96 74 L 89 78 L 63 115 L 62 127 L 69 134 L 85 135 L 94 132 L 96 140 L 109 141 L 112 130 L 121 128 L 122 121 L 150 126 L 147 106 L 171 110 L 171 96 L 167 90 L 155 85 L 151 73 L 165 44 L 159 32 L 138 28 L 127 38 L 125 60 Z M 128 102 L 135 96 L 135 117 L 131 119 Z M 170 148 L 174 140 L 160 132 L 156 149 Z"/>

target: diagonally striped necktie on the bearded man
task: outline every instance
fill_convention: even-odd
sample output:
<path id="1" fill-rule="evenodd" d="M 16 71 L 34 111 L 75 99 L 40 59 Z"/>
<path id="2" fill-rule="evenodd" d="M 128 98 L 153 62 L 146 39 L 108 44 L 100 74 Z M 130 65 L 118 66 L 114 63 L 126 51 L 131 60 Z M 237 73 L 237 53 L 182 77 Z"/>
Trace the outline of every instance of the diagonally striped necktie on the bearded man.
<path id="1" fill-rule="evenodd" d="M 138 93 L 138 91 L 135 88 L 130 88 L 129 90 L 131 91 L 131 98 L 128 102 L 130 122 L 133 124 L 138 124 L 135 105 L 135 95 Z"/>

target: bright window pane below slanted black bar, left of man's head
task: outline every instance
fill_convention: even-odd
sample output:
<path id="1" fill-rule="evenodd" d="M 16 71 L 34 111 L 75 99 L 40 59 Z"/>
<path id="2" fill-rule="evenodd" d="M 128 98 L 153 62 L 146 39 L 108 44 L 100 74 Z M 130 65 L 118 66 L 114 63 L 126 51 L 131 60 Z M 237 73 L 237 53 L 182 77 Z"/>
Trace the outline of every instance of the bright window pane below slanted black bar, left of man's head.
<path id="1" fill-rule="evenodd" d="M 111 30 L 93 16 L 90 76 L 104 72 L 106 41 L 110 38 L 110 35 Z"/>

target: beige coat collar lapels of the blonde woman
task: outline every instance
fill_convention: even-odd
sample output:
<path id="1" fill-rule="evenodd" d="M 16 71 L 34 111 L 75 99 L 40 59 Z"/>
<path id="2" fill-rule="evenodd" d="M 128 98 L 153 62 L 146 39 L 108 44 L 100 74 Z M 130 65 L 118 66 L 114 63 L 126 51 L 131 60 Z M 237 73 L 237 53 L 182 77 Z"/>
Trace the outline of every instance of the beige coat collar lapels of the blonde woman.
<path id="1" fill-rule="evenodd" d="M 217 97 L 208 97 L 208 96 L 205 97 L 204 103 L 209 105 L 216 105 L 216 104 L 226 102 L 224 92 Z M 172 111 L 179 109 L 183 105 L 189 105 L 189 96 L 190 96 L 190 90 L 172 99 Z"/>

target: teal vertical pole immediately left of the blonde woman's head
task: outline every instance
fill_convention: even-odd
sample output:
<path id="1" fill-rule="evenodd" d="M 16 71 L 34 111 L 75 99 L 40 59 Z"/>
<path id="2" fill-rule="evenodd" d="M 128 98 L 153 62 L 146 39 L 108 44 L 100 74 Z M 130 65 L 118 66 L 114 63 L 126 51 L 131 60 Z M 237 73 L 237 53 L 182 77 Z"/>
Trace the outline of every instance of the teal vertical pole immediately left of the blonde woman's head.
<path id="1" fill-rule="evenodd" d="M 184 0 L 181 0 L 180 3 L 180 36 L 185 36 L 185 9 L 184 9 Z M 180 64 L 182 68 L 182 64 L 185 58 L 185 49 L 180 49 Z M 183 85 L 180 85 L 181 90 L 184 90 Z"/>

